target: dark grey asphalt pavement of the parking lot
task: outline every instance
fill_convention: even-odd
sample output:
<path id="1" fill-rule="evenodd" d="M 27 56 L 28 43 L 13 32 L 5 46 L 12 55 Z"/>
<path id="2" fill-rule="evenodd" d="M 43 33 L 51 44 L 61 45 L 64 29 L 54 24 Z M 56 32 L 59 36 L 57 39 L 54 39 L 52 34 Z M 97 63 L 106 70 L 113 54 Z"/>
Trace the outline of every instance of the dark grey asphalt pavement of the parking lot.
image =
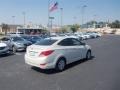
<path id="1" fill-rule="evenodd" d="M 85 41 L 93 58 L 63 72 L 40 70 L 24 62 L 24 52 L 0 57 L 0 90 L 120 90 L 120 36 Z"/>

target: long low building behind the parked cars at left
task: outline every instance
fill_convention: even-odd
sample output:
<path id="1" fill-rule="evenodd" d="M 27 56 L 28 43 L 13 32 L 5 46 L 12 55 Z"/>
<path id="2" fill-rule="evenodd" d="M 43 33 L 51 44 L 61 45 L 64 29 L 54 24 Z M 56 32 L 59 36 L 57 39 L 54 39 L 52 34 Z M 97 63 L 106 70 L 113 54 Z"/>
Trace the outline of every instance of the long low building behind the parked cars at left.
<path id="1" fill-rule="evenodd" d="M 7 33 L 15 33 L 22 32 L 24 34 L 40 34 L 44 32 L 45 27 L 42 25 L 26 25 L 23 27 L 22 25 L 7 25 L 6 31 Z M 5 29 L 3 25 L 0 25 L 0 33 L 5 34 Z"/>

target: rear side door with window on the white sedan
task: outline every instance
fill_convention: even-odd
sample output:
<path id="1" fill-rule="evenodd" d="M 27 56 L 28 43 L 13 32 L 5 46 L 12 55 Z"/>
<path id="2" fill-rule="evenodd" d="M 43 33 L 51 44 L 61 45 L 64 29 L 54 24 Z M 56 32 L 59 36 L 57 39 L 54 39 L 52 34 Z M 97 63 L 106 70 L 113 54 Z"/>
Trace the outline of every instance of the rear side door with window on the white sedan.
<path id="1" fill-rule="evenodd" d="M 80 55 L 78 54 L 79 50 L 78 47 L 74 45 L 72 38 L 66 38 L 58 43 L 58 45 L 60 45 L 59 48 L 62 50 L 63 55 L 66 57 L 68 63 L 78 59 L 78 55 Z"/>

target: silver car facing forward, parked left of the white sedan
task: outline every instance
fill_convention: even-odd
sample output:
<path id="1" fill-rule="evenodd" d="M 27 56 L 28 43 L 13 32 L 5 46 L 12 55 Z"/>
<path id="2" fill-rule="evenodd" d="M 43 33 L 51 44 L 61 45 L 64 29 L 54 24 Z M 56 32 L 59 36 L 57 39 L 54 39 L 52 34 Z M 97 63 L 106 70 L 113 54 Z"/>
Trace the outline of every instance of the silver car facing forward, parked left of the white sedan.
<path id="1" fill-rule="evenodd" d="M 13 51 L 13 53 L 16 51 L 26 50 L 27 46 L 32 44 L 31 42 L 17 36 L 3 37 L 1 38 L 1 41 L 3 43 L 6 43 L 9 46 L 10 50 Z"/>

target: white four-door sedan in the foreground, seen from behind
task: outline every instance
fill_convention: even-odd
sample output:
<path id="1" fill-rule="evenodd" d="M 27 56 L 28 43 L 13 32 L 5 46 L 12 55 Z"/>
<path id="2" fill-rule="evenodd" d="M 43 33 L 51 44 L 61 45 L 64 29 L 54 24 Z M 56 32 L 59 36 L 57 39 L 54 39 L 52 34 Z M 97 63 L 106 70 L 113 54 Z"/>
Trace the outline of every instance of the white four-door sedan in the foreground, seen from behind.
<path id="1" fill-rule="evenodd" d="M 25 63 L 63 71 L 67 64 L 91 58 L 91 47 L 73 37 L 52 37 L 28 46 Z"/>

